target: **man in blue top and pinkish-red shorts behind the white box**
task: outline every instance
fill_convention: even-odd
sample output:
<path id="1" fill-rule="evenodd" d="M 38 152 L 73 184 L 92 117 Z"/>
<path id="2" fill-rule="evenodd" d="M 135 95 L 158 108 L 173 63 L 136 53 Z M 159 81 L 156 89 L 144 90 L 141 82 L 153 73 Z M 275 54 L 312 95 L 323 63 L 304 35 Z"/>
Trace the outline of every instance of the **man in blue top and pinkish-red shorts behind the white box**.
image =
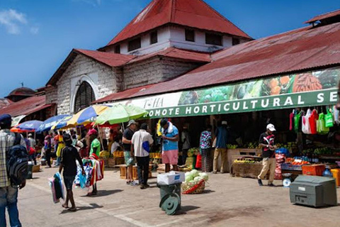
<path id="1" fill-rule="evenodd" d="M 162 127 L 162 162 L 165 164 L 165 172 L 170 172 L 170 165 L 174 171 L 178 171 L 177 164 L 179 162 L 179 130 L 173 123 L 163 118 Z"/>

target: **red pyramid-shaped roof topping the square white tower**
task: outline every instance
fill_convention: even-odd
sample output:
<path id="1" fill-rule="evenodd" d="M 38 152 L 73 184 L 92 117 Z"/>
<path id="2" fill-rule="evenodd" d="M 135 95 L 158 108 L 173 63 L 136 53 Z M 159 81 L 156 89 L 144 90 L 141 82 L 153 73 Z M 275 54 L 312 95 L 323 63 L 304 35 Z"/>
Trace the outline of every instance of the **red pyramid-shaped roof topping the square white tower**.
<path id="1" fill-rule="evenodd" d="M 176 24 L 251 39 L 249 35 L 202 0 L 154 0 L 108 45 L 113 45 L 166 24 Z"/>

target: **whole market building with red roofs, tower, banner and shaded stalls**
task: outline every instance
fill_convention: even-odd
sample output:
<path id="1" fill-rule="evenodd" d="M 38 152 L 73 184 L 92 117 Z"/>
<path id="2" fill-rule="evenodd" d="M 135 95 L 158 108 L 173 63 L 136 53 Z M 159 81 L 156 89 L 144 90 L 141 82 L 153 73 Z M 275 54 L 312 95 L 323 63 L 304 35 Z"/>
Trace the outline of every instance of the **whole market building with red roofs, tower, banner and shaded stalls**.
<path id="1" fill-rule="evenodd" d="M 252 40 L 203 1 L 195 2 L 154 0 L 105 47 L 72 50 L 47 82 L 47 104 L 57 105 L 55 114 L 95 103 L 140 106 L 149 111 L 152 128 L 162 117 L 180 130 L 190 126 L 192 147 L 207 124 L 227 121 L 230 145 L 242 149 L 228 149 L 225 170 L 234 156 L 261 153 L 256 146 L 267 123 L 276 125 L 278 142 L 293 152 L 335 149 L 340 11 Z M 296 126 L 290 121 L 291 114 L 330 109 L 331 138 L 302 132 L 300 120 Z"/>

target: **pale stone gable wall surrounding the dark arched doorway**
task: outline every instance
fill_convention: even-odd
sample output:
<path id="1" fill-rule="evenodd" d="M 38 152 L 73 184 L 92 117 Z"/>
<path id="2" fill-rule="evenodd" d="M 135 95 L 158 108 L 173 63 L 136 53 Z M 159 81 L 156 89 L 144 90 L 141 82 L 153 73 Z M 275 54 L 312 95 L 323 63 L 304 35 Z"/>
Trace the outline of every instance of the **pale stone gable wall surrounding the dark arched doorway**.
<path id="1" fill-rule="evenodd" d="M 73 114 L 74 96 L 78 88 L 76 84 L 79 79 L 89 82 L 96 99 L 117 92 L 122 83 L 120 70 L 98 63 L 84 55 L 78 55 L 62 74 L 55 89 L 47 92 L 47 96 L 51 94 L 49 101 L 54 101 L 57 90 L 57 99 L 54 102 L 57 103 L 58 114 Z"/>

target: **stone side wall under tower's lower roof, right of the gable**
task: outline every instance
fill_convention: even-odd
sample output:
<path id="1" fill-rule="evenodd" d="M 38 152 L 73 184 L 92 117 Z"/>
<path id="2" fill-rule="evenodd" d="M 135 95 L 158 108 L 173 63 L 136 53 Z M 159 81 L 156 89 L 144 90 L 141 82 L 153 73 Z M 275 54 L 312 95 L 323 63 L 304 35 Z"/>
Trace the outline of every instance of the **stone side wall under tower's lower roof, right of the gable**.
<path id="1" fill-rule="evenodd" d="M 152 57 L 149 60 L 131 63 L 123 68 L 123 89 L 164 82 L 200 65 L 202 64 L 169 57 Z"/>

